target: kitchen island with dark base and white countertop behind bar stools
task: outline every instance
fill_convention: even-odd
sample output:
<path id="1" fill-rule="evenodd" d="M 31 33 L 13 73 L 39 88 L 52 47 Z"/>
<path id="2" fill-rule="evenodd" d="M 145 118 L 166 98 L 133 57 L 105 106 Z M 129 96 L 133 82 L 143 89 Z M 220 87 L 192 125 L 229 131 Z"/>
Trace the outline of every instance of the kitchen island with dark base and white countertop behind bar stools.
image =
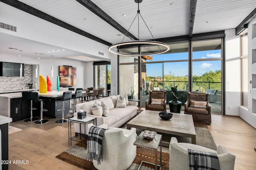
<path id="1" fill-rule="evenodd" d="M 70 90 L 52 90 L 52 92 L 47 93 L 39 93 L 40 99 L 47 99 L 44 102 L 44 109 L 48 111 L 44 111 L 44 116 L 50 117 L 60 117 L 62 115 L 62 111 L 57 111 L 58 109 L 62 109 L 62 98 L 63 92 Z M 75 94 L 75 91 L 72 91 L 72 94 Z M 70 101 L 66 101 L 65 103 L 65 111 L 64 113 L 69 113 Z M 6 117 L 12 117 L 12 121 L 18 121 L 22 119 L 30 118 L 30 102 L 22 100 L 22 92 L 15 93 L 6 93 L 0 94 L 0 115 Z M 33 102 L 33 107 L 37 107 L 38 109 L 34 110 L 33 115 L 40 115 L 40 104 L 38 102 Z"/>

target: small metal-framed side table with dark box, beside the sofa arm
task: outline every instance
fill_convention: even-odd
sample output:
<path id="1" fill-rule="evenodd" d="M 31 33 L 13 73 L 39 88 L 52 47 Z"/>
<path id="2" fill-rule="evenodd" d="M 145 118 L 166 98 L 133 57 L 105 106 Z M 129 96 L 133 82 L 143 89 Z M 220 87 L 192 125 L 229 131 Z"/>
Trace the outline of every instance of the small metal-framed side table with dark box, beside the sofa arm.
<path id="1" fill-rule="evenodd" d="M 81 142 L 81 136 L 84 136 L 84 137 L 86 136 L 86 123 L 89 122 L 89 121 L 92 121 L 92 120 L 93 120 L 93 124 L 97 125 L 96 117 L 86 116 L 86 118 L 84 118 L 84 119 L 78 119 L 77 116 L 76 116 L 76 117 L 72 117 L 72 118 L 68 119 L 68 122 L 69 122 L 69 125 L 68 125 L 68 145 L 69 145 L 69 142 L 70 142 L 70 145 L 72 145 L 72 141 L 82 143 Z M 78 135 L 72 136 L 71 135 L 71 122 L 80 124 L 80 132 L 81 132 L 81 124 L 84 125 L 84 134 L 79 133 Z M 80 141 L 75 139 L 78 136 L 80 136 Z M 86 149 L 86 143 L 87 142 L 84 139 L 84 149 Z"/>

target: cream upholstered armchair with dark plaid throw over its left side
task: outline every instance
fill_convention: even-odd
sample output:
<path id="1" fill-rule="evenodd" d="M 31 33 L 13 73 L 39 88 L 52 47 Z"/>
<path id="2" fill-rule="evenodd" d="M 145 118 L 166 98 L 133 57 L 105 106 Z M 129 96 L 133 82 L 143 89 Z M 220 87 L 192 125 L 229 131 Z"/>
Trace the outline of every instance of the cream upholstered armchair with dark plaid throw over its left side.
<path id="1" fill-rule="evenodd" d="M 93 124 L 88 124 L 88 129 Z M 107 129 L 104 123 L 98 127 Z M 105 131 L 102 140 L 102 161 L 98 165 L 93 160 L 93 165 L 98 170 L 126 170 L 132 165 L 136 157 L 136 146 L 133 145 L 137 138 L 136 129 L 122 129 L 110 127 Z"/>

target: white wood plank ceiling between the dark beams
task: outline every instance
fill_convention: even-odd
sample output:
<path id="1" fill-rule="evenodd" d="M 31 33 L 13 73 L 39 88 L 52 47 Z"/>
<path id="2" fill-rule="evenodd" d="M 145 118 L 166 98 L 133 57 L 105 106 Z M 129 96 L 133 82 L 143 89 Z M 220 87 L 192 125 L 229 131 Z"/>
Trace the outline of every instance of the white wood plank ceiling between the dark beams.
<path id="1" fill-rule="evenodd" d="M 122 40 L 124 30 L 128 30 L 138 9 L 138 4 L 134 0 L 20 0 L 20 2 L 109 43 Z M 116 22 L 117 27 L 124 29 L 117 30 L 108 24 L 110 21 L 102 20 L 79 2 L 95 4 L 102 10 L 101 14 L 106 14 Z M 192 37 L 195 33 L 236 28 L 255 9 L 256 1 L 143 0 L 139 5 L 140 14 L 152 35 L 155 39 L 159 39 L 181 35 Z M 194 16 L 194 20 L 190 20 L 191 16 Z M 152 39 L 141 18 L 139 25 L 138 31 L 136 19 L 129 29 L 128 37 L 135 39 L 140 35 L 140 39 Z M 121 36 L 118 36 L 120 34 Z M 124 41 L 129 41 L 128 37 Z"/>

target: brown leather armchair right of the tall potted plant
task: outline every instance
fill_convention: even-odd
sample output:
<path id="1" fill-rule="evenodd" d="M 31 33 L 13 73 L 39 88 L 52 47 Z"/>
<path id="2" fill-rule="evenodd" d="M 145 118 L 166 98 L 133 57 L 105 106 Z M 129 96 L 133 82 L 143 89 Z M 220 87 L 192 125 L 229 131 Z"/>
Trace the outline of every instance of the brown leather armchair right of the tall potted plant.
<path id="1" fill-rule="evenodd" d="M 209 94 L 188 92 L 184 113 L 192 115 L 194 121 L 211 124 L 211 106 L 208 99 Z"/>

